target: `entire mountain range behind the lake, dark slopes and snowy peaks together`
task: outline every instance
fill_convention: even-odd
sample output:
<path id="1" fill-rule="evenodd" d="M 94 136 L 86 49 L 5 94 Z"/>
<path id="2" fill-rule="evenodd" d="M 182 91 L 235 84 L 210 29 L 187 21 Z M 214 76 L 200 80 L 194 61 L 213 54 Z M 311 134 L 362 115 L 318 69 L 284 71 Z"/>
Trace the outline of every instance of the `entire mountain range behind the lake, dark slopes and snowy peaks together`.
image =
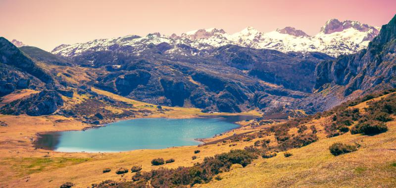
<path id="1" fill-rule="evenodd" d="M 156 105 L 198 107 L 203 112 L 258 108 L 266 115 L 298 115 L 297 109 L 314 113 L 376 88 L 395 87 L 394 20 L 379 29 L 332 19 L 316 36 L 292 27 L 270 33 L 248 27 L 232 35 L 215 28 L 180 36 L 131 35 L 61 45 L 52 53 L 37 47 L 16 48 L 1 39 L 3 59 L 35 62 L 44 73 L 35 75 L 20 69 L 21 63 L 6 60 L 3 75 L 11 71 L 19 77 L 3 77 L 0 89 L 3 95 L 15 88 L 30 88 L 69 97 L 89 86 Z M 67 72 L 70 68 L 85 77 Z M 18 80 L 28 77 L 38 79 L 20 87 Z M 47 94 L 42 98 L 59 106 L 59 97 Z M 13 113 L 12 109 L 8 112 Z"/>

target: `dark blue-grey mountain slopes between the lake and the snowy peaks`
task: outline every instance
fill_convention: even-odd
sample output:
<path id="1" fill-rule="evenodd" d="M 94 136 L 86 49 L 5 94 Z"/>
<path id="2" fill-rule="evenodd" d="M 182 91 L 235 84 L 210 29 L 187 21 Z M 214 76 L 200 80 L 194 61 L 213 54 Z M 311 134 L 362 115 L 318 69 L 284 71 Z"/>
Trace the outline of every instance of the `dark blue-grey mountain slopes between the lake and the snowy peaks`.
<path id="1" fill-rule="evenodd" d="M 152 35 L 149 39 L 160 38 Z M 275 112 L 309 93 L 317 62 L 332 57 L 234 45 L 203 51 L 162 42 L 142 43 L 138 50 L 113 45 L 70 59 L 108 71 L 88 84 L 148 103 L 222 112 L 257 106 Z M 294 72 L 300 74 L 291 76 Z"/>

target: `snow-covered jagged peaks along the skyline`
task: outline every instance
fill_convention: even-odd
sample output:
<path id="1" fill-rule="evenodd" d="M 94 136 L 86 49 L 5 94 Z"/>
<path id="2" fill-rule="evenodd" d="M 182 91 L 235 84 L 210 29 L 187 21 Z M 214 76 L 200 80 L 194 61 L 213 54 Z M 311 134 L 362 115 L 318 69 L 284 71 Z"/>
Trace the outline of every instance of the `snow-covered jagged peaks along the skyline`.
<path id="1" fill-rule="evenodd" d="M 301 30 L 292 27 L 277 29 L 269 33 L 262 33 L 252 27 L 241 32 L 228 34 L 222 29 L 199 29 L 183 33 L 181 36 L 149 34 L 146 37 L 126 36 L 114 39 L 100 39 L 88 43 L 61 45 L 55 47 L 52 53 L 67 57 L 80 55 L 84 51 L 111 50 L 114 46 L 123 46 L 134 52 L 142 51 L 142 47 L 150 43 L 158 45 L 166 42 L 171 45 L 187 45 L 201 51 L 210 50 L 225 45 L 237 45 L 250 48 L 276 49 L 289 51 L 320 51 L 332 56 L 349 54 L 367 47 L 379 32 L 379 28 L 361 24 L 356 21 L 332 19 L 326 22 L 321 32 L 316 36 L 308 36 Z"/>

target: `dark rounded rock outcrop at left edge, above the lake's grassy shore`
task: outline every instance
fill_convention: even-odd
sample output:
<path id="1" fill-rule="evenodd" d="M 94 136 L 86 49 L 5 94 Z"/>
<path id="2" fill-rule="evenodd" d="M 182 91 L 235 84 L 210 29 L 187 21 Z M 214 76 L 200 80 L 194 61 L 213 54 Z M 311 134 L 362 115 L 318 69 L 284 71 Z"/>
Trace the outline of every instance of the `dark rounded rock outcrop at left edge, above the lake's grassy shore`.
<path id="1" fill-rule="evenodd" d="M 0 109 L 2 114 L 20 115 L 26 113 L 30 116 L 48 115 L 55 112 L 63 105 L 60 94 L 55 91 L 44 90 L 38 94 L 15 100 Z"/>

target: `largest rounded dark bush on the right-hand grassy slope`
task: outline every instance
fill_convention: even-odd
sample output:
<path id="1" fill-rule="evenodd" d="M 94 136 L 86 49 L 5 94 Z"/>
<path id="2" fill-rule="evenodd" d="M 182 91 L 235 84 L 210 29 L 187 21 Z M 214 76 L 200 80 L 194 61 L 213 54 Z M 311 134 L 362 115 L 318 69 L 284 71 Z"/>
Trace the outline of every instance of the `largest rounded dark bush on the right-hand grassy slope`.
<path id="1" fill-rule="evenodd" d="M 362 133 L 365 135 L 376 135 L 388 131 L 388 127 L 383 122 L 368 120 L 366 122 L 358 123 L 350 131 L 351 134 Z"/>

